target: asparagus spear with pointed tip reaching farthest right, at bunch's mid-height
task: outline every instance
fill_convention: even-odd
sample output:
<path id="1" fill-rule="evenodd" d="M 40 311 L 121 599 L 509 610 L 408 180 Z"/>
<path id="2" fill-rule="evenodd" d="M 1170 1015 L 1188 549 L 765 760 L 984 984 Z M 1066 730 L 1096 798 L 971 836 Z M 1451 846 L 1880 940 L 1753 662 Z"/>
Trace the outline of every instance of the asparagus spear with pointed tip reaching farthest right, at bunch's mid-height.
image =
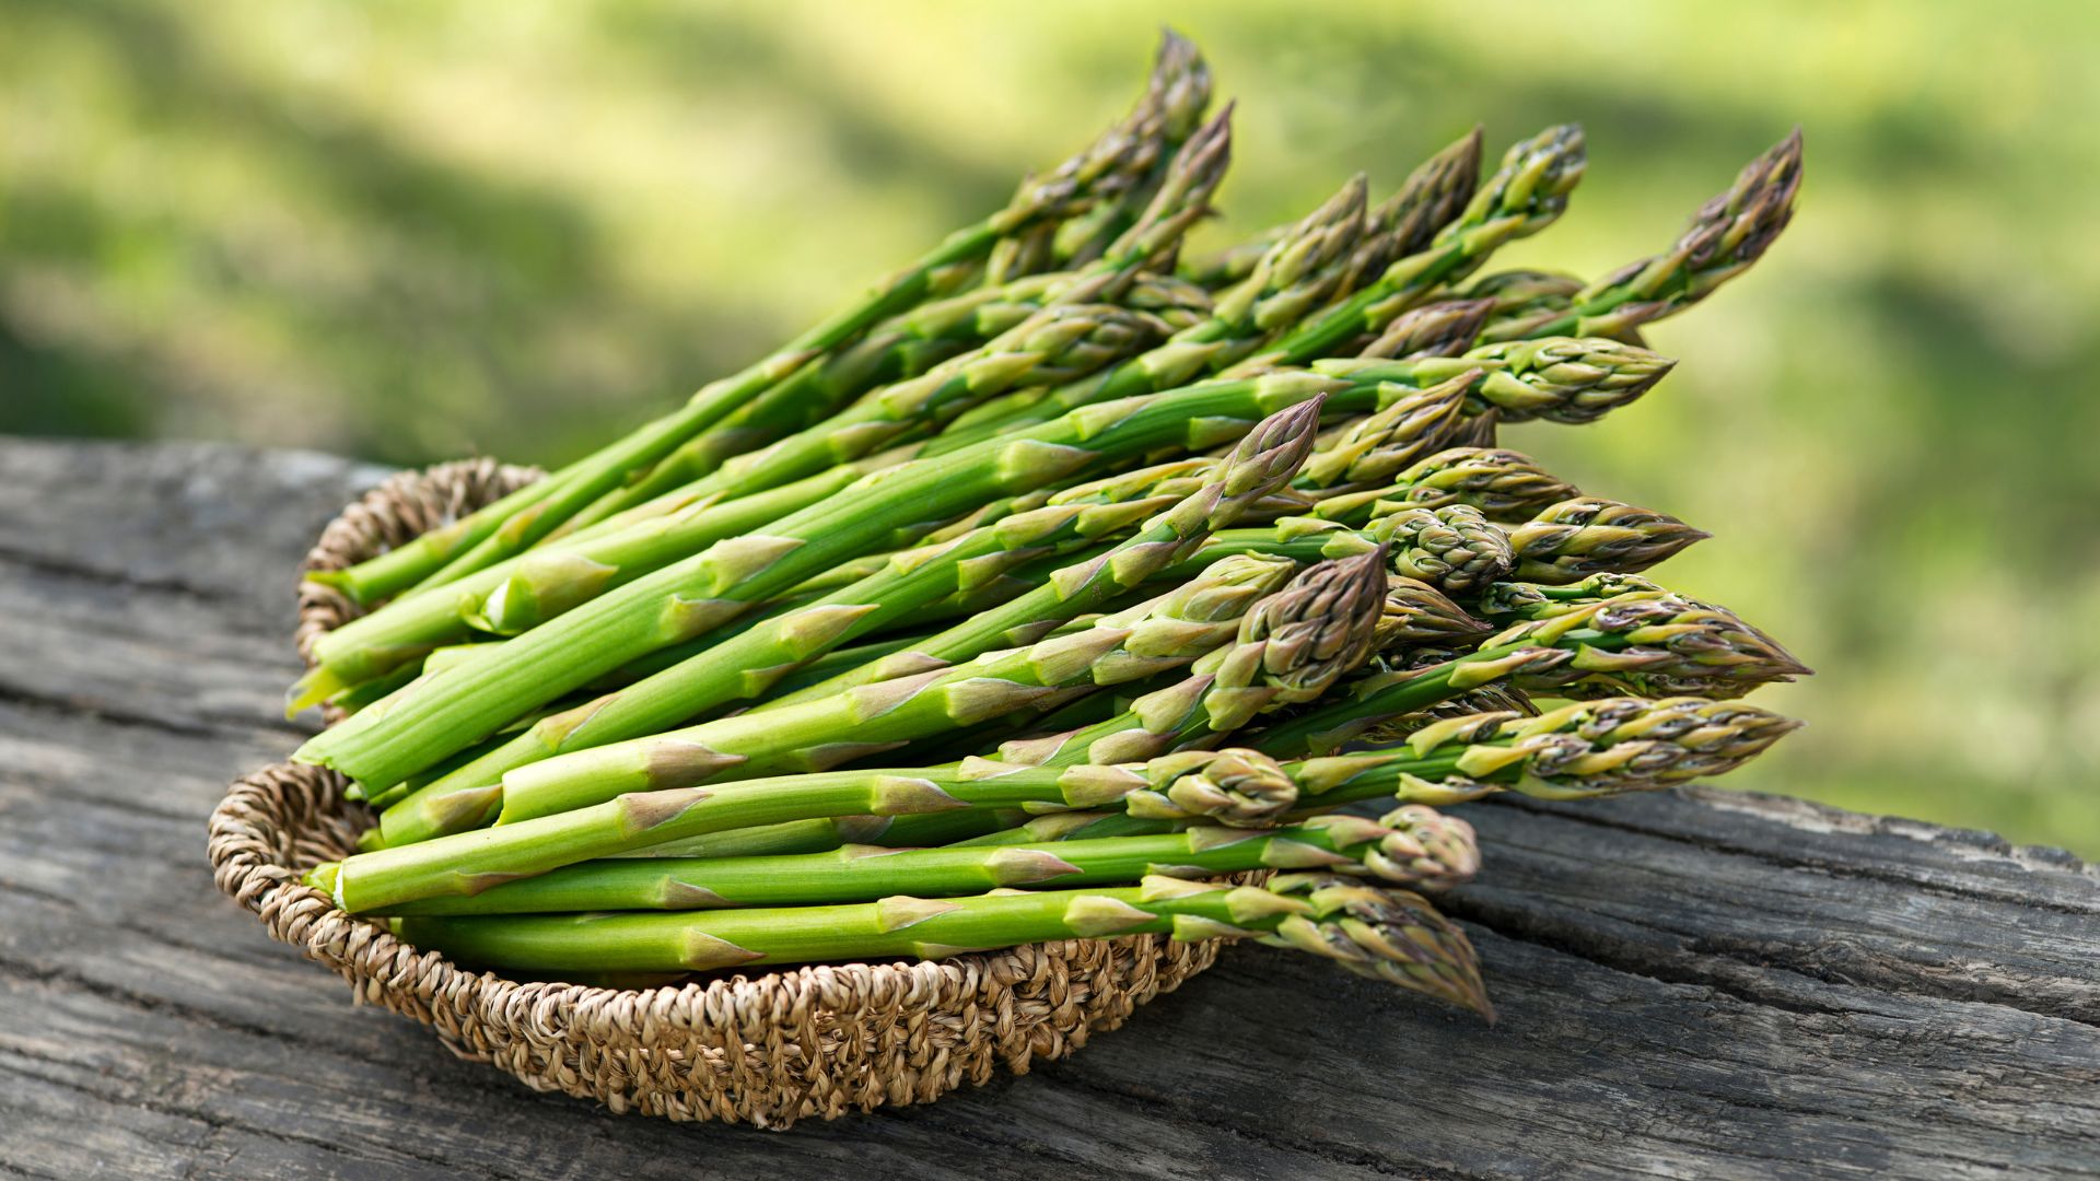
<path id="1" fill-rule="evenodd" d="M 1443 664 L 1365 677 L 1340 698 L 1264 727 L 1281 757 L 1336 750 L 1369 727 L 1495 681 L 1560 691 L 1592 675 L 1638 677 L 1653 696 L 1741 696 L 1808 668 L 1724 607 L 1632 590 L 1541 620 L 1520 620 Z M 1623 689 L 1621 689 L 1623 691 Z"/>

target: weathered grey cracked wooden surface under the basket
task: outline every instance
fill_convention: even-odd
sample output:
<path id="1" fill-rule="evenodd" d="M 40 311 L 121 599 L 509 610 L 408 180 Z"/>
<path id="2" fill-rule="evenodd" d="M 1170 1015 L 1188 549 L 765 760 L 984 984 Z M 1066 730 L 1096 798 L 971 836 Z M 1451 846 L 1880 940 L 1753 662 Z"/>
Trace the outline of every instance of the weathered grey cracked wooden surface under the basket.
<path id="1" fill-rule="evenodd" d="M 1241 948 L 1077 1057 L 792 1133 L 615 1118 L 353 1009 L 212 891 L 292 569 L 378 471 L 0 439 L 4 1177 L 2092 1177 L 2100 876 L 1697 790 L 1472 807 L 1502 1023 Z"/>

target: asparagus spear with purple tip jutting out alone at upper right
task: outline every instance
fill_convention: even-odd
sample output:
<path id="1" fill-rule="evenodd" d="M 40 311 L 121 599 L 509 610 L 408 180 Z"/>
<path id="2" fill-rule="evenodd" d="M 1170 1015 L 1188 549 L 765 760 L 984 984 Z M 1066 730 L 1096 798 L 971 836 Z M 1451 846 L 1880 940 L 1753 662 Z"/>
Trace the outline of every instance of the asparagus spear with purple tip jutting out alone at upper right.
<path id="1" fill-rule="evenodd" d="M 1772 145 L 1743 166 L 1735 185 L 1693 214 L 1678 242 L 1590 284 L 1552 319 L 1512 322 L 1489 330 L 1491 340 L 1512 332 L 1550 336 L 1621 336 L 1642 324 L 1676 315 L 1747 271 L 1793 219 L 1802 189 L 1802 132 Z"/>

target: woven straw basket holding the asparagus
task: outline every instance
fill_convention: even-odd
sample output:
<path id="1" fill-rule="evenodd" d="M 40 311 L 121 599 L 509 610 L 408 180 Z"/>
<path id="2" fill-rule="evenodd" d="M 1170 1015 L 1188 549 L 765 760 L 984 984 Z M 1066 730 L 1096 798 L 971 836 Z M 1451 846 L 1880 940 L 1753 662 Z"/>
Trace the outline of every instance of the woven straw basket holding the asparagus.
<path id="1" fill-rule="evenodd" d="M 401 473 L 344 509 L 307 555 L 338 569 L 538 479 L 491 460 Z M 298 647 L 355 616 L 300 586 Z M 330 719 L 338 721 L 338 719 Z M 884 1103 L 924 1103 L 1058 1059 L 1088 1034 L 1216 958 L 1216 944 L 1155 935 L 1033 944 L 941 962 L 827 965 L 678 988 L 519 983 L 418 952 L 298 883 L 351 853 L 372 815 L 334 771 L 279 763 L 233 782 L 212 811 L 212 872 L 275 939 L 351 981 L 359 1002 L 430 1025 L 445 1047 L 536 1091 L 613 1112 L 785 1128 Z"/>

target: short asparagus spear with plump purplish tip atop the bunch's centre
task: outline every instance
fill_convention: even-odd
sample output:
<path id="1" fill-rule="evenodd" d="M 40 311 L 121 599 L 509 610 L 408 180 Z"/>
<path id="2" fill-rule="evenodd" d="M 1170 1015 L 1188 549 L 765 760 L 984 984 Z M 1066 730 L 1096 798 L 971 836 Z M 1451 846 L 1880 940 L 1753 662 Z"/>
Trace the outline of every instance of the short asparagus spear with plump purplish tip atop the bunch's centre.
<path id="1" fill-rule="evenodd" d="M 1371 654 L 1388 616 L 1388 582 L 1384 546 L 1315 565 L 1258 603 L 1239 624 L 1237 641 L 1199 660 L 1184 681 L 1138 698 L 1105 723 L 1006 742 L 1000 759 L 1033 767 L 1153 759 L 1197 738 L 1231 733 L 1258 712 L 1310 702 Z M 1426 586 L 1413 588 L 1441 599 Z M 1466 616 L 1447 601 L 1436 614 Z"/>

